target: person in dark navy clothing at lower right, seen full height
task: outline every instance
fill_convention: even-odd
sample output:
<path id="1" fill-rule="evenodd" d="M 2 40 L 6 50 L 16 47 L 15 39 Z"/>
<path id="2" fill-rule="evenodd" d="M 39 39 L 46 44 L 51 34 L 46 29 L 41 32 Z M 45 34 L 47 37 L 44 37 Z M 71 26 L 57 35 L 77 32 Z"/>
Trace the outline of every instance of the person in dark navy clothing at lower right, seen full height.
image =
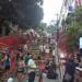
<path id="1" fill-rule="evenodd" d="M 73 56 L 69 55 L 69 59 L 66 62 L 66 71 L 62 82 L 74 82 L 74 69 L 75 63 Z"/>

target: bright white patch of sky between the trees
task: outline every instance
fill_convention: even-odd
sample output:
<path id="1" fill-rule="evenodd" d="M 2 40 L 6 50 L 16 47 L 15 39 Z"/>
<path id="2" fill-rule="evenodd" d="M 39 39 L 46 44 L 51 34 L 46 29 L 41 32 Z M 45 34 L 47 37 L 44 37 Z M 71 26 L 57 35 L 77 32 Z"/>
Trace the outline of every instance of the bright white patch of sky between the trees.
<path id="1" fill-rule="evenodd" d="M 63 0 L 44 0 L 44 20 L 43 22 L 49 24 L 59 14 Z"/>

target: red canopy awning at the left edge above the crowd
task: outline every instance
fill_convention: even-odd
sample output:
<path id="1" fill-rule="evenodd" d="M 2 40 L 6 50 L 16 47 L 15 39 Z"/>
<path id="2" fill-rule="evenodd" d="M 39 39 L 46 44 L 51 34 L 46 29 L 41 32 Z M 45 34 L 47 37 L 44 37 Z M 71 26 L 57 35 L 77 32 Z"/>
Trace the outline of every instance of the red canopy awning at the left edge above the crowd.
<path id="1" fill-rule="evenodd" d="M 23 39 L 15 35 L 9 35 L 0 37 L 0 47 L 7 46 L 7 47 L 13 47 L 15 45 L 23 44 Z"/>

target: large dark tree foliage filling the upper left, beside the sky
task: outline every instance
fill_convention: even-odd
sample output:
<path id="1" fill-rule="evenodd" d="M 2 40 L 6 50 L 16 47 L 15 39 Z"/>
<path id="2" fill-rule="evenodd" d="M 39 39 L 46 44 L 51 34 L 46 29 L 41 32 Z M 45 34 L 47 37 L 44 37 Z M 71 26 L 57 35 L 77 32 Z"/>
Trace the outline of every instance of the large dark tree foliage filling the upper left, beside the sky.
<path id="1" fill-rule="evenodd" d="M 22 26 L 38 25 L 43 19 L 43 0 L 0 0 L 0 17 Z"/>

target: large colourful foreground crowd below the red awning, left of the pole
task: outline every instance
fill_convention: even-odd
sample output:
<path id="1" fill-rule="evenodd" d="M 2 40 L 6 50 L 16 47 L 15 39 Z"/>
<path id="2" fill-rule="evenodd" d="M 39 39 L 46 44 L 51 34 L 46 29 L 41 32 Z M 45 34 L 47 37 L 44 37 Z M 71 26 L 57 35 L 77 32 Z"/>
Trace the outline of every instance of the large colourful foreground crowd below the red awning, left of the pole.
<path id="1" fill-rule="evenodd" d="M 39 70 L 38 82 L 40 82 L 43 72 L 48 74 L 48 70 L 55 71 L 54 62 L 54 59 L 45 60 L 40 56 L 36 59 L 34 55 L 22 48 L 10 50 L 8 47 L 3 47 L 0 48 L 0 78 L 5 80 L 11 75 L 17 78 L 19 82 L 23 79 L 34 82 L 36 71 Z"/>

